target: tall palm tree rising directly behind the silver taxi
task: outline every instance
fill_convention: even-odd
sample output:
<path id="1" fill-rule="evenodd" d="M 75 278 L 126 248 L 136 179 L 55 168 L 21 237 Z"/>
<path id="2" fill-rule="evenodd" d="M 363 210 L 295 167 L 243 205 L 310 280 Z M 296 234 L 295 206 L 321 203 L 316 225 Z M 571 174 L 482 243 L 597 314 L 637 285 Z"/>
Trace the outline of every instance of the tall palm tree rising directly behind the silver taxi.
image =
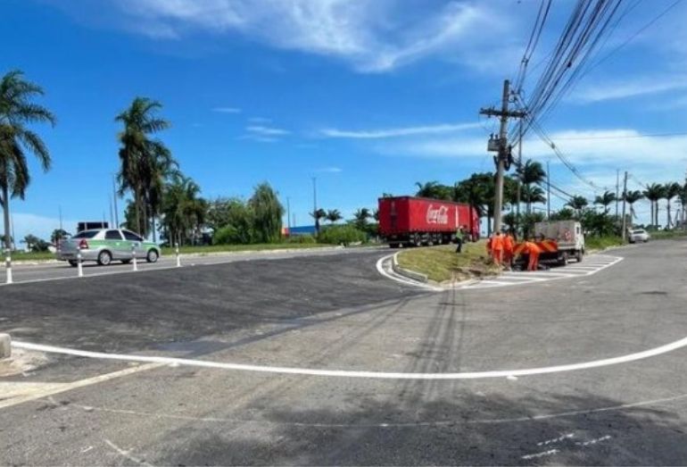
<path id="1" fill-rule="evenodd" d="M 137 231 L 143 236 L 149 229 L 148 211 L 160 204 L 161 180 L 169 175 L 175 164 L 170 150 L 160 140 L 150 138 L 153 133 L 170 128 L 169 121 L 156 116 L 161 107 L 157 101 L 136 97 L 128 109 L 114 119 L 124 124 L 119 135 L 120 195 L 127 190 L 133 193 Z M 155 206 L 151 206 L 152 203 Z"/>

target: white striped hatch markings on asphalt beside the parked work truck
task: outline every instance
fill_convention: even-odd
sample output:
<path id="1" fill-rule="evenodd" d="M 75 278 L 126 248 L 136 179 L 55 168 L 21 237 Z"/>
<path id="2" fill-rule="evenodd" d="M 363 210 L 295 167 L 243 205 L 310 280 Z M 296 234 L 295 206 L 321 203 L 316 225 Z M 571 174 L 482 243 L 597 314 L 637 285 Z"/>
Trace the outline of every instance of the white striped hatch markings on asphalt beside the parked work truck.
<path id="1" fill-rule="evenodd" d="M 497 288 L 517 286 L 522 284 L 544 282 L 555 279 L 580 278 L 591 276 L 599 271 L 623 261 L 619 256 L 608 254 L 592 254 L 585 258 L 584 263 L 571 263 L 565 267 L 553 268 L 548 271 L 504 271 L 498 277 L 480 280 L 476 284 L 456 286 L 457 288 Z"/>

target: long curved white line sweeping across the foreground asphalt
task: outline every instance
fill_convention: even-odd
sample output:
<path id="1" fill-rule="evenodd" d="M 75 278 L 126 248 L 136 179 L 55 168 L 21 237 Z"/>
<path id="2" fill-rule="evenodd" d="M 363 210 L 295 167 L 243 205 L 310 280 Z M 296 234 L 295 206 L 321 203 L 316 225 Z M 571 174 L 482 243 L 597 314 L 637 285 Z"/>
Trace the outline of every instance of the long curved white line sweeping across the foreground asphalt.
<path id="1" fill-rule="evenodd" d="M 617 365 L 619 363 L 635 362 L 660 354 L 672 352 L 678 348 L 687 346 L 687 338 L 676 340 L 665 346 L 659 346 L 650 350 L 644 350 L 635 354 L 627 354 L 619 357 L 605 358 L 584 363 L 571 363 L 558 366 L 544 366 L 524 370 L 497 370 L 497 371 L 468 371 L 459 373 L 401 373 L 385 371 L 350 371 L 350 370 L 316 370 L 311 368 L 294 368 L 283 366 L 249 365 L 244 363 L 208 362 L 205 360 L 190 360 L 186 358 L 163 357 L 154 355 L 131 354 L 106 354 L 104 352 L 90 352 L 66 347 L 44 346 L 29 342 L 12 341 L 12 346 L 27 350 L 37 350 L 51 354 L 67 354 L 87 358 L 102 358 L 107 360 L 122 360 L 126 362 L 165 363 L 204 368 L 217 368 L 220 370 L 257 371 L 262 373 L 296 374 L 309 376 L 331 376 L 339 378 L 368 378 L 368 379 L 484 379 L 506 378 L 509 376 L 531 376 L 562 371 L 587 370 L 600 366 Z"/>

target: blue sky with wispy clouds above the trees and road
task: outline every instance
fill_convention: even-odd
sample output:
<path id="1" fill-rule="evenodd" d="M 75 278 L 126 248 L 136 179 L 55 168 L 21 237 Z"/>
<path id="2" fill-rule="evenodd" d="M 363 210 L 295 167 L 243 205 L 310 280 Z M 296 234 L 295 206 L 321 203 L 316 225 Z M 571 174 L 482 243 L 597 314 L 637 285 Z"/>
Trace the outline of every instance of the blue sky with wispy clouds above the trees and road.
<path id="1" fill-rule="evenodd" d="M 641 183 L 683 181 L 687 136 L 687 4 L 644 2 L 627 13 L 600 63 L 543 127 L 598 187 L 616 171 Z M 19 68 L 46 90 L 57 115 L 39 128 L 54 160 L 36 164 L 15 233 L 109 219 L 119 130 L 134 96 L 164 104 L 160 138 L 203 196 L 250 196 L 263 180 L 291 201 L 298 224 L 312 207 L 346 216 L 416 181 L 452 184 L 491 171 L 478 116 L 514 78 L 539 2 L 532 0 L 5 0 L 0 72 Z M 545 59 L 573 2 L 554 1 L 532 63 Z M 533 65 L 525 90 L 540 68 Z M 594 189 L 533 134 L 524 157 L 550 162 L 560 188 Z M 597 190 L 597 194 L 600 191 Z M 120 207 L 123 206 L 120 200 Z M 552 206 L 563 204 L 552 198 Z M 640 221 L 648 204 L 637 204 Z M 661 220 L 665 219 L 662 207 Z M 286 223 L 286 219 L 285 219 Z"/>

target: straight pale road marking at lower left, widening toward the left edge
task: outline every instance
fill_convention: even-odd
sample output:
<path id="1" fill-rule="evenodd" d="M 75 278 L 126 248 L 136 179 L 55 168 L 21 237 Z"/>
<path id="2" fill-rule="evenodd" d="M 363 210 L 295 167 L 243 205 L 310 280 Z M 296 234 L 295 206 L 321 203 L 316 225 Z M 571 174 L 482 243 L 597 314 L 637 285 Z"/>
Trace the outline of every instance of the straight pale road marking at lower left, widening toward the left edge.
<path id="1" fill-rule="evenodd" d="M 13 346 L 13 343 L 12 343 Z M 54 396 L 71 389 L 84 388 L 92 384 L 97 384 L 110 379 L 121 378 L 140 371 L 153 370 L 162 366 L 161 363 L 150 363 L 139 365 L 112 373 L 105 373 L 93 378 L 80 379 L 71 383 L 15 383 L 12 381 L 0 382 L 0 394 L 9 395 L 9 398 L 0 400 L 0 409 L 12 407 L 12 405 L 23 404 L 25 402 L 42 399 L 46 396 Z"/>

